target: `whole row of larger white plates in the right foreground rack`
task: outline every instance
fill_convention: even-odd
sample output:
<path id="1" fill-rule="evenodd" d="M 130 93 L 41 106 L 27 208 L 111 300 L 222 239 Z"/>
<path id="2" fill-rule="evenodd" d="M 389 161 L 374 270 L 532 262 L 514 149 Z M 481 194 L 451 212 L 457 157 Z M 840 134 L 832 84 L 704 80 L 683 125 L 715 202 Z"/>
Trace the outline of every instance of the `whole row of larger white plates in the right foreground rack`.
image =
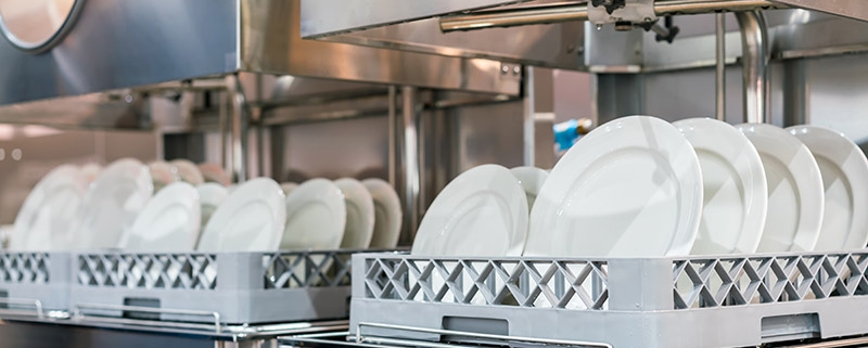
<path id="1" fill-rule="evenodd" d="M 495 165 L 460 175 L 426 212 L 412 253 L 662 257 L 857 249 L 868 243 L 868 219 L 859 214 L 866 204 L 868 160 L 841 133 L 631 116 L 582 138 L 548 178 L 541 169 Z"/>

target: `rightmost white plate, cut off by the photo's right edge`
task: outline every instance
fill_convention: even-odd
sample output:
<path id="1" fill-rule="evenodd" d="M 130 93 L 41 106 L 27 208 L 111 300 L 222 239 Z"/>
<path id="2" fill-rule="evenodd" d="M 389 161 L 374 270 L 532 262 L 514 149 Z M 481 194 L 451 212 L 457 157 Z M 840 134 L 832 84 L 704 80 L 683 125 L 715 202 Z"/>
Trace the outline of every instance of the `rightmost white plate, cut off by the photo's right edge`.
<path id="1" fill-rule="evenodd" d="M 853 141 L 815 127 L 787 128 L 820 168 L 825 208 L 816 250 L 861 249 L 868 243 L 868 160 Z"/>

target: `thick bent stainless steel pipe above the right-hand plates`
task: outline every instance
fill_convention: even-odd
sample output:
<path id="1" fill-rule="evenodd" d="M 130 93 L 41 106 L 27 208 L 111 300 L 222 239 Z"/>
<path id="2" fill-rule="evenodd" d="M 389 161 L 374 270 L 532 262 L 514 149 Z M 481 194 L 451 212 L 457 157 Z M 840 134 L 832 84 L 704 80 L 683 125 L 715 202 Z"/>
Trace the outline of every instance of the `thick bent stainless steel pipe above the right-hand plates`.
<path id="1" fill-rule="evenodd" d="M 744 80 L 744 121 L 768 119 L 768 33 L 762 12 L 737 12 L 741 31 L 741 65 Z"/>

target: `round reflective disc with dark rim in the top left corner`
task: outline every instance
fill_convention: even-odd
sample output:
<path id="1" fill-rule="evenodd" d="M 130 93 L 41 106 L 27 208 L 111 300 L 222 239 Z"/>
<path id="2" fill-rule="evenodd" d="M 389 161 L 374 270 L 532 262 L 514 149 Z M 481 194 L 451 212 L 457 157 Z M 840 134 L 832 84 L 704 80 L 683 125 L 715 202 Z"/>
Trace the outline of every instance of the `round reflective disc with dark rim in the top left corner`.
<path id="1" fill-rule="evenodd" d="M 15 48 L 40 53 L 63 40 L 84 5 L 85 0 L 2 0 L 0 31 Z"/>

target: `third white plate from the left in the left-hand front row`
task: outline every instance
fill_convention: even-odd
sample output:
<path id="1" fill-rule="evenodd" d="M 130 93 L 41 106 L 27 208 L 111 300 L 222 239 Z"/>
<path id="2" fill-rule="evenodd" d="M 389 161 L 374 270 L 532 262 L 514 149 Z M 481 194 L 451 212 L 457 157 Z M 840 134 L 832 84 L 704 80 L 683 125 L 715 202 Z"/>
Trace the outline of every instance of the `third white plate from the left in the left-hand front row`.
<path id="1" fill-rule="evenodd" d="M 118 246 L 127 252 L 192 252 L 199 228 L 199 193 L 187 182 L 176 182 L 148 202 Z"/>

